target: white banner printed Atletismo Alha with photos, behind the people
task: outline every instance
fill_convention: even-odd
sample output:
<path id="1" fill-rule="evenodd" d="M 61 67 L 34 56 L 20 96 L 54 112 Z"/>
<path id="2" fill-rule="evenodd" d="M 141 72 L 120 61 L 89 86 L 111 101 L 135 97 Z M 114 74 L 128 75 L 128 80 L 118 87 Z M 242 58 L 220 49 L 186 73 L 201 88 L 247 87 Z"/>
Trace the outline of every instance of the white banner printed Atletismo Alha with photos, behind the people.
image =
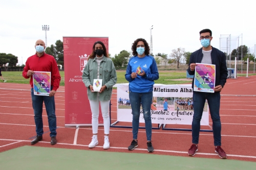
<path id="1" fill-rule="evenodd" d="M 129 98 L 129 83 L 117 85 L 117 122 L 132 122 L 133 114 Z M 151 102 L 153 124 L 191 125 L 194 115 L 194 99 L 191 84 L 154 84 Z M 144 123 L 142 106 L 140 123 Z M 201 125 L 209 125 L 208 102 L 205 101 Z"/>

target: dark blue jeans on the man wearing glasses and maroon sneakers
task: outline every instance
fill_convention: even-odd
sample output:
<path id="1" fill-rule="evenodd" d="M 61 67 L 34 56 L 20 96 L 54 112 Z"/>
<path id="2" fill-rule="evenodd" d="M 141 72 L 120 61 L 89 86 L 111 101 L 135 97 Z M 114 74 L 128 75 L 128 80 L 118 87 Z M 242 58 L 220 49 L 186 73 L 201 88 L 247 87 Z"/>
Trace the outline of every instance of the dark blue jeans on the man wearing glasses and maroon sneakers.
<path id="1" fill-rule="evenodd" d="M 197 92 L 193 93 L 194 102 L 194 116 L 192 122 L 192 143 L 198 144 L 200 122 L 203 114 L 205 100 L 207 99 L 210 116 L 212 119 L 212 131 L 214 132 L 214 145 L 221 145 L 221 119 L 220 119 L 220 92 L 207 93 Z"/>

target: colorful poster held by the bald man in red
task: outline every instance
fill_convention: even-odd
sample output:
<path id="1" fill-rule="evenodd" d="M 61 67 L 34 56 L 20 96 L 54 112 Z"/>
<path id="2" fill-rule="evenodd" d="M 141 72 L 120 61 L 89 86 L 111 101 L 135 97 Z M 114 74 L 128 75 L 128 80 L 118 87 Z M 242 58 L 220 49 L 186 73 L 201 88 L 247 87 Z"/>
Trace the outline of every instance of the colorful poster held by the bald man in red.
<path id="1" fill-rule="evenodd" d="M 51 72 L 34 71 L 33 86 L 35 95 L 48 95 L 51 91 Z"/>

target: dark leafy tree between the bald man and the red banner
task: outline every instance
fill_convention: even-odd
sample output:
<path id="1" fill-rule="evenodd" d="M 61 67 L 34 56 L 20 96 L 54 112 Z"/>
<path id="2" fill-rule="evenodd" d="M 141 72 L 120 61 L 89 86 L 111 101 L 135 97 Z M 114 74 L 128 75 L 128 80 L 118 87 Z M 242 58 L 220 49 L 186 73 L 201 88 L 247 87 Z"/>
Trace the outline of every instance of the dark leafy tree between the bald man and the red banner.
<path id="1" fill-rule="evenodd" d="M 57 40 L 55 45 L 51 45 L 46 48 L 46 54 L 52 55 L 57 64 L 64 65 L 64 55 L 63 55 L 63 42 L 61 40 Z"/>

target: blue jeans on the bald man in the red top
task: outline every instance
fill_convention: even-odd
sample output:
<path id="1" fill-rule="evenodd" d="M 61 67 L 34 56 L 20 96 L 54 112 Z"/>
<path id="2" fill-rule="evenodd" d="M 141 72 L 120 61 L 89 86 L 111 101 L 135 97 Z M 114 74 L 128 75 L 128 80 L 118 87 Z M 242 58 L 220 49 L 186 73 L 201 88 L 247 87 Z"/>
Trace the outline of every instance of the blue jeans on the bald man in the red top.
<path id="1" fill-rule="evenodd" d="M 34 89 L 31 89 L 32 96 L 32 106 L 34 109 L 34 119 L 35 119 L 35 131 L 38 136 L 42 136 L 44 133 L 42 124 L 42 102 L 45 103 L 46 112 L 48 116 L 49 129 L 51 131 L 50 136 L 56 136 L 56 115 L 55 115 L 55 102 L 54 96 L 44 96 L 44 95 L 34 95 Z"/>

